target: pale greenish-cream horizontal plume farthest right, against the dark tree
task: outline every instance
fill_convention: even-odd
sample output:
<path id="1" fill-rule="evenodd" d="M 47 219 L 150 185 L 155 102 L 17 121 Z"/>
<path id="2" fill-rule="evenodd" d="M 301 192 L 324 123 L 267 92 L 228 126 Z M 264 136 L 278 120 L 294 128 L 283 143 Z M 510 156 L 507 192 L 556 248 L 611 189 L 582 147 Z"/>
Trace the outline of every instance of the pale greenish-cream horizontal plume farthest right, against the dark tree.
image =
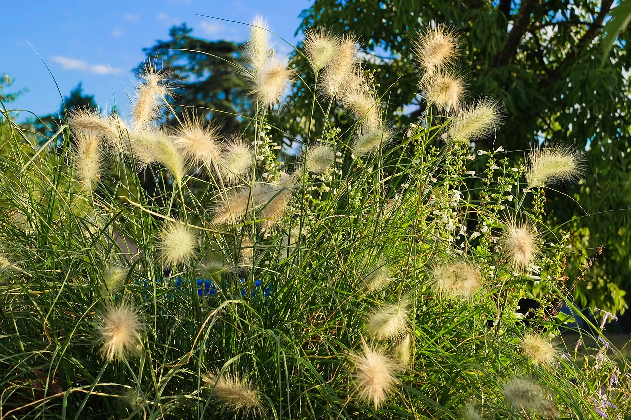
<path id="1" fill-rule="evenodd" d="M 533 149 L 526 160 L 528 189 L 555 182 L 570 182 L 581 176 L 584 161 L 574 149 L 549 146 Z"/>

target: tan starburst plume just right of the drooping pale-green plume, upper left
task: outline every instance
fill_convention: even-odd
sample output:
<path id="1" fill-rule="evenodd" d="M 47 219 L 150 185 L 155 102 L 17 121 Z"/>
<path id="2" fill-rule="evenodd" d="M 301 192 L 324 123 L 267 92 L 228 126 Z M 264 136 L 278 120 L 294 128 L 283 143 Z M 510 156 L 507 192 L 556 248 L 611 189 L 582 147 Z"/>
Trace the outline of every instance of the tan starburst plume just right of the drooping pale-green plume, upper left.
<path id="1" fill-rule="evenodd" d="M 175 147 L 194 165 L 213 168 L 221 156 L 218 129 L 187 121 L 174 134 Z"/>

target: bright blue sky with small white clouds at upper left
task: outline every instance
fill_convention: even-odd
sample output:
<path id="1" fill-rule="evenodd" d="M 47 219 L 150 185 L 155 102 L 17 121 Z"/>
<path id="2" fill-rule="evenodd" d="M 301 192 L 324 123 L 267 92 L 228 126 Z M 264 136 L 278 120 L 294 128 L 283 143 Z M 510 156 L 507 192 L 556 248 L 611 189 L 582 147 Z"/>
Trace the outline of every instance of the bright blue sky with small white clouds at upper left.
<path id="1" fill-rule="evenodd" d="M 198 15 L 249 22 L 260 14 L 275 33 L 295 44 L 298 15 L 309 0 L 13 0 L 3 2 L 0 77 L 13 78 L 11 93 L 28 88 L 9 109 L 37 115 L 59 110 L 61 96 L 78 83 L 109 111 L 115 103 L 129 109 L 127 92 L 134 86 L 131 69 L 144 59 L 143 47 L 167 40 L 168 29 L 186 22 L 192 36 L 208 40 L 244 41 L 247 26 Z M 279 52 L 288 45 L 275 42 Z M 46 69 L 49 67 L 49 71 Z M 30 115 L 20 112 L 19 119 Z"/>

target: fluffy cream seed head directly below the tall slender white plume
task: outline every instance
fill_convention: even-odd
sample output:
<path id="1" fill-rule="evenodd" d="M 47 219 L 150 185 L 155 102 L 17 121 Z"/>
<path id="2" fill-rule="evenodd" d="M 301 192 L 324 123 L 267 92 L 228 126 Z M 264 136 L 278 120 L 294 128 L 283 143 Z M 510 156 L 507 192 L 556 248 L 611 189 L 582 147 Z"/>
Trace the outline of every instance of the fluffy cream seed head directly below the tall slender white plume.
<path id="1" fill-rule="evenodd" d="M 293 72 L 287 68 L 286 62 L 271 57 L 259 73 L 259 77 L 254 79 L 252 93 L 262 107 L 274 107 L 292 82 Z"/>

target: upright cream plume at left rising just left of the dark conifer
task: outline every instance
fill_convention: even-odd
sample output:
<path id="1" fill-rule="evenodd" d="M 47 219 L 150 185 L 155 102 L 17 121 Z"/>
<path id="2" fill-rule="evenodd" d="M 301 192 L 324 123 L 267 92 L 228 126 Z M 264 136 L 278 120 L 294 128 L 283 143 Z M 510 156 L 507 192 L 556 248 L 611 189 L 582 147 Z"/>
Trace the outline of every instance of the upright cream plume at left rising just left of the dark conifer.
<path id="1" fill-rule="evenodd" d="M 162 107 L 170 91 L 164 83 L 163 75 L 156 73 L 151 68 L 148 68 L 146 73 L 141 74 L 140 78 L 143 82 L 136 86 L 136 102 L 132 114 L 134 127 L 146 129 L 160 115 L 160 107 Z"/>

